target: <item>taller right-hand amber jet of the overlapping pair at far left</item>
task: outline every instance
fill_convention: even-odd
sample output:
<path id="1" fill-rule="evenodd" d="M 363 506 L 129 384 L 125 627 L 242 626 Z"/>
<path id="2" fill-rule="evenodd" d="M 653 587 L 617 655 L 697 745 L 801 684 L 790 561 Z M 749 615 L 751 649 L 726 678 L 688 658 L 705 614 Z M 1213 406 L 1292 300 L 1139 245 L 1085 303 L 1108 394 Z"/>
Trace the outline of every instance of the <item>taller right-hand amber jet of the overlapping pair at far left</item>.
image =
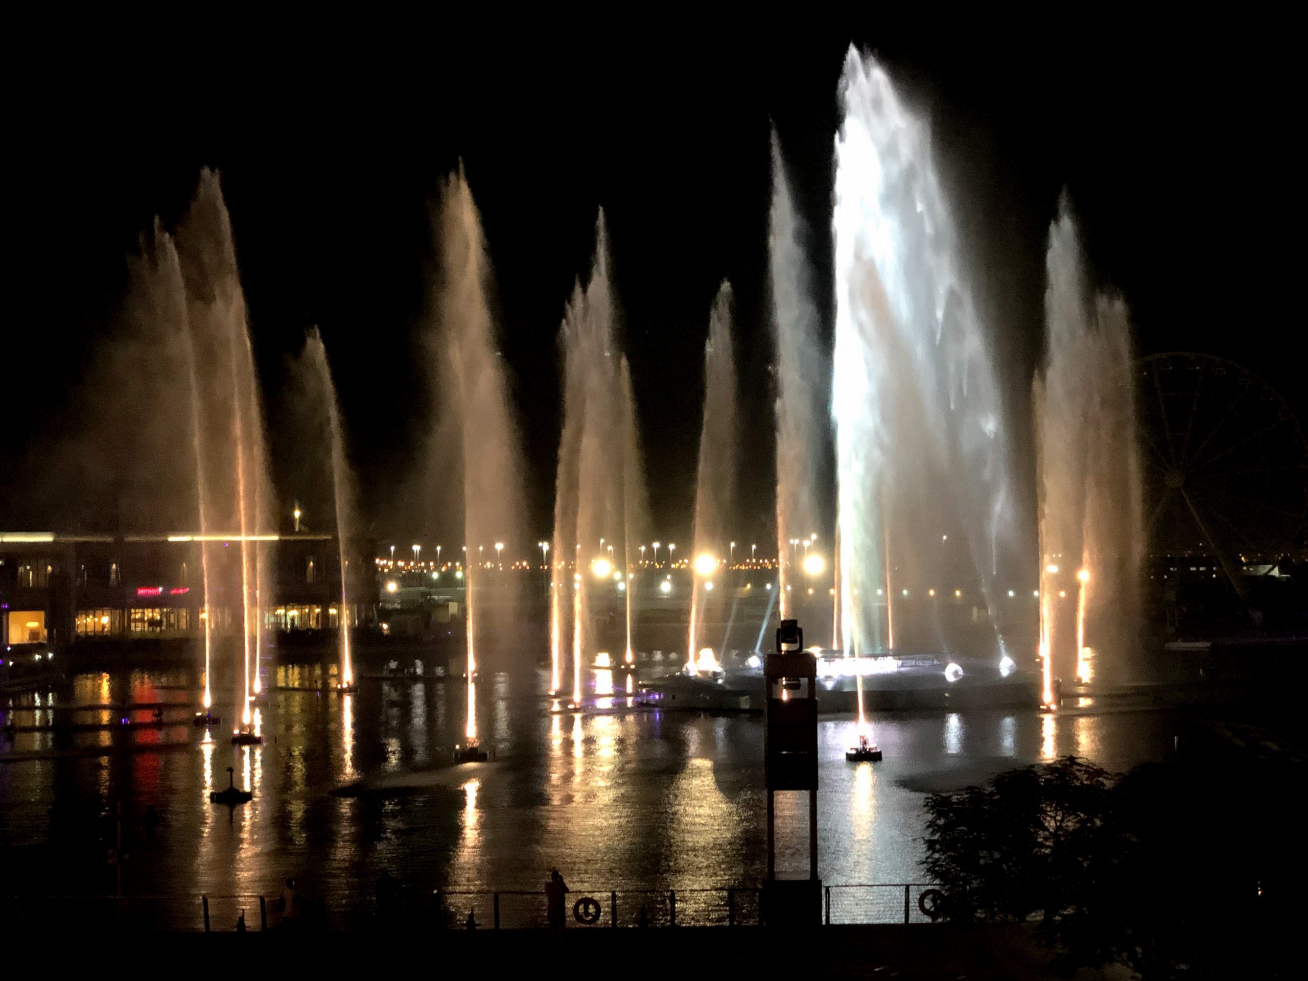
<path id="1" fill-rule="evenodd" d="M 200 174 L 195 199 L 178 226 L 177 251 L 191 334 L 190 357 L 205 365 L 192 396 L 204 407 L 199 413 L 203 434 L 198 437 L 205 455 L 201 497 L 211 502 L 207 517 L 221 528 L 220 534 L 239 542 L 238 562 L 221 561 L 216 549 L 221 543 L 200 543 L 201 564 L 208 569 L 205 619 L 241 624 L 235 709 L 237 717 L 250 725 L 263 637 L 260 587 L 268 561 L 267 543 L 275 539 L 272 492 L 232 221 L 213 171 Z M 201 532 L 201 538 L 207 535 Z M 215 610 L 215 578 L 221 581 L 224 598 L 239 587 L 238 616 L 230 617 L 229 608 Z M 209 629 L 216 632 L 218 625 Z"/>

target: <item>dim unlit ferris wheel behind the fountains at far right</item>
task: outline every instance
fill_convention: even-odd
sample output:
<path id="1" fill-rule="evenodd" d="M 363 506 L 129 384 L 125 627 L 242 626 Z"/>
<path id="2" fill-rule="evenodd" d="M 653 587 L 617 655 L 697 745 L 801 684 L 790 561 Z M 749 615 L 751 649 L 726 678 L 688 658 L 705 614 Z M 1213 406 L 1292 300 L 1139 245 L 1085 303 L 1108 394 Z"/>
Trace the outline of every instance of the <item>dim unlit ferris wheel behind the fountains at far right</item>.
<path id="1" fill-rule="evenodd" d="M 1308 441 L 1284 399 L 1210 354 L 1152 354 L 1137 369 L 1150 551 L 1227 565 L 1292 548 L 1308 527 Z"/>

